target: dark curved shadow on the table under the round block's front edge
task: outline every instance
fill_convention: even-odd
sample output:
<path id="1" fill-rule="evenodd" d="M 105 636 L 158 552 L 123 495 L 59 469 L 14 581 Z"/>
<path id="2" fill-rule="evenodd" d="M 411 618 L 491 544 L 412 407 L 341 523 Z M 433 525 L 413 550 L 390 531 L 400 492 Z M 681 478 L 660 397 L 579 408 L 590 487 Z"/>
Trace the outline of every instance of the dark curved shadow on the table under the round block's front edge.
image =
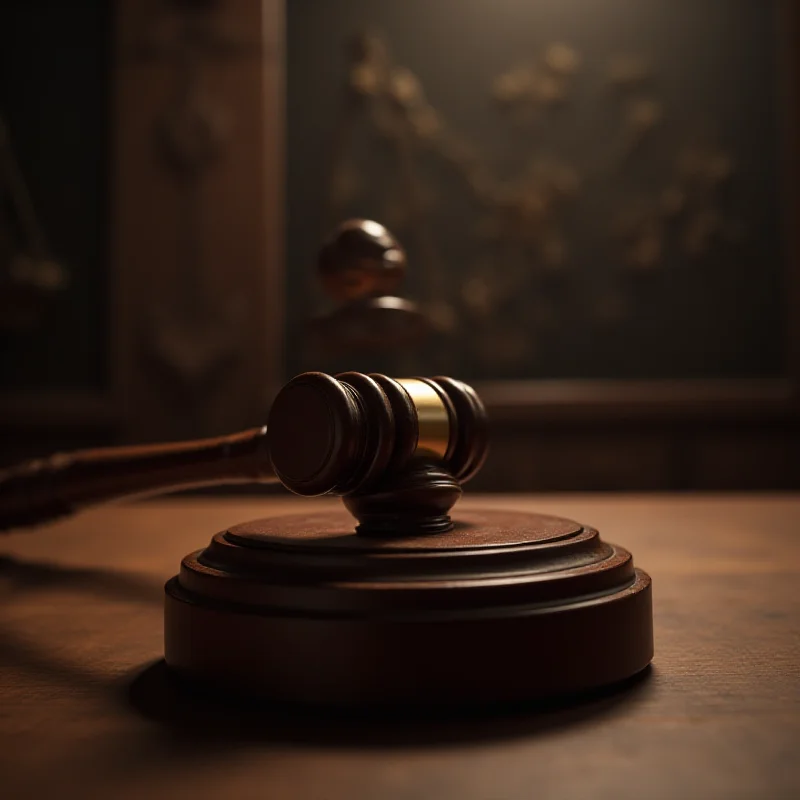
<path id="1" fill-rule="evenodd" d="M 652 667 L 602 690 L 514 706 L 436 713 L 315 709 L 222 695 L 173 675 L 158 661 L 128 685 L 127 702 L 175 744 L 259 742 L 380 748 L 530 737 L 625 713 L 649 693 Z"/>

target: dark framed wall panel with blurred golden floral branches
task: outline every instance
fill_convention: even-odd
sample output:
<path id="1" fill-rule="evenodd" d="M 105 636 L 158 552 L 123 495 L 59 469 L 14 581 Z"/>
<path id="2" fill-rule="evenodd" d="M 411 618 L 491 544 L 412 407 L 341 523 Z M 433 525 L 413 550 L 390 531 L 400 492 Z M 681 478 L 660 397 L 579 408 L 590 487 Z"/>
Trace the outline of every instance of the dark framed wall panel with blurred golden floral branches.
<path id="1" fill-rule="evenodd" d="M 337 217 L 367 216 L 406 244 L 408 292 L 440 323 L 410 362 L 418 372 L 782 374 L 790 136 L 778 8 L 288 4 L 289 372 L 320 366 L 302 342 L 305 319 L 323 305 L 312 274 L 321 236 Z M 364 29 L 378 34 L 392 69 L 416 78 L 438 133 L 401 133 L 398 144 L 369 98 L 347 110 L 347 43 Z M 563 97 L 504 105 L 493 93 L 504 75 L 513 93 L 515 70 L 539 81 L 534 94 L 555 86 Z M 490 174 L 491 202 L 472 191 L 469 170 L 454 168 L 459 143 Z M 539 213 L 531 206 L 541 202 Z"/>

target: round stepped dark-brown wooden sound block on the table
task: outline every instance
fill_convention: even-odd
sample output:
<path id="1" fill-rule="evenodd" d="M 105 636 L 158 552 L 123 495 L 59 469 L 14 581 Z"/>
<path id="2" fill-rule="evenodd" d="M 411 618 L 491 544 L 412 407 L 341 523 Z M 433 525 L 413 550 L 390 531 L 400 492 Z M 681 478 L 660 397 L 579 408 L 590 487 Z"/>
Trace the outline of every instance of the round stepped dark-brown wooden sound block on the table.
<path id="1" fill-rule="evenodd" d="M 649 576 L 593 528 L 464 511 L 371 538 L 345 512 L 217 534 L 167 583 L 174 670 L 282 702 L 447 706 L 549 698 L 653 656 Z"/>

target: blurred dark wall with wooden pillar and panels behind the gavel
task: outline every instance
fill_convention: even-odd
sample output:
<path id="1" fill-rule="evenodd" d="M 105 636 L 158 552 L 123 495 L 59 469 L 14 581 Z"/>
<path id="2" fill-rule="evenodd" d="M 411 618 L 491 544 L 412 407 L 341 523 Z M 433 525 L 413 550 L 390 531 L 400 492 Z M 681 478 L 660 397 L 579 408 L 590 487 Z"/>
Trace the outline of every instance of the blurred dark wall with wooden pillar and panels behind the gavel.
<path id="1" fill-rule="evenodd" d="M 355 369 L 471 382 L 476 489 L 798 488 L 797 31 L 788 0 L 7 0 L 3 461 Z M 357 217 L 402 282 L 326 283 Z"/>

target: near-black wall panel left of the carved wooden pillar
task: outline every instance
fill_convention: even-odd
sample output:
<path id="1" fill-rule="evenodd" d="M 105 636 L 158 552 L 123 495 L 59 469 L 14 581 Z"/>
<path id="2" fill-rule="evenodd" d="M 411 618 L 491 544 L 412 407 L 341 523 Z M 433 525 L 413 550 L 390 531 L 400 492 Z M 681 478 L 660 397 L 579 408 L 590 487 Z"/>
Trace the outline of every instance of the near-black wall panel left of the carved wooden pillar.
<path id="1" fill-rule="evenodd" d="M 12 0 L 0 9 L 0 115 L 70 276 L 36 329 L 0 332 L 7 387 L 108 383 L 112 35 L 108 3 Z"/>

